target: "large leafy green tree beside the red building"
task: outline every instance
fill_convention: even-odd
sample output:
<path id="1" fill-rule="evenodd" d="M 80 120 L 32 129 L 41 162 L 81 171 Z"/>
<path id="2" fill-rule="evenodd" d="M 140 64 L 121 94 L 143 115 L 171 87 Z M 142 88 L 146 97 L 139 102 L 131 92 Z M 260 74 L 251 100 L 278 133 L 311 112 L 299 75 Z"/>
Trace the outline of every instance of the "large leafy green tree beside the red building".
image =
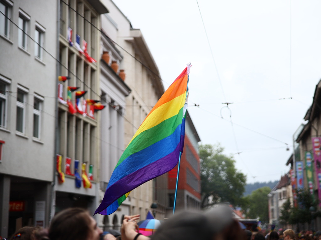
<path id="1" fill-rule="evenodd" d="M 235 168 L 235 160 L 223 154 L 218 145 L 200 145 L 202 208 L 213 196 L 213 204 L 229 202 L 239 205 L 245 191 L 246 176 Z"/>

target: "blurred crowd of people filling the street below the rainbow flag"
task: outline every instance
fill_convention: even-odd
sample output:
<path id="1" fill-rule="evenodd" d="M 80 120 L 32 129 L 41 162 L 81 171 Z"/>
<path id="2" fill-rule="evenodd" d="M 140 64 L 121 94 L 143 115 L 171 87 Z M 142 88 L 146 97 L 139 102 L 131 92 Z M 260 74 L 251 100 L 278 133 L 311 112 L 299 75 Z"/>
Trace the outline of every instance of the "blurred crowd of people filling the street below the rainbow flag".
<path id="1" fill-rule="evenodd" d="M 295 234 L 284 231 L 253 233 L 241 229 L 227 205 L 207 212 L 178 212 L 166 219 L 152 236 L 139 233 L 139 215 L 125 216 L 118 235 L 103 232 L 88 211 L 68 208 L 57 213 L 49 228 L 23 227 L 10 240 L 321 240 L 311 231 Z"/>

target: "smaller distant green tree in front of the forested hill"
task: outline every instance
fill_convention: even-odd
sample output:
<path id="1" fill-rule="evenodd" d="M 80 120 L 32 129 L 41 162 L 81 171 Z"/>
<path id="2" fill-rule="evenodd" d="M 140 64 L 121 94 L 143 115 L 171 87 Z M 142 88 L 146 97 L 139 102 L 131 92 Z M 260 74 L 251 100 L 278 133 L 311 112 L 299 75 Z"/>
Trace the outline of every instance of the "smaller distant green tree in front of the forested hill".
<path id="1" fill-rule="evenodd" d="M 262 223 L 269 221 L 269 207 L 267 196 L 271 192 L 270 187 L 262 187 L 254 190 L 251 195 L 244 198 L 242 208 L 246 209 L 246 217 L 250 219 L 260 218 Z"/>

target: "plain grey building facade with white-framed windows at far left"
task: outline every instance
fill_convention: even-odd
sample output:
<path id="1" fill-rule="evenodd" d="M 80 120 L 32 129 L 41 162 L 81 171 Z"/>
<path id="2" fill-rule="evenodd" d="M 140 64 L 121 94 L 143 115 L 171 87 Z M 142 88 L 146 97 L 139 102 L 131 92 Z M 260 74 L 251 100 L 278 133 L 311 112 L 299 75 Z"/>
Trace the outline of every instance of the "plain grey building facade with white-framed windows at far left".
<path id="1" fill-rule="evenodd" d="M 50 218 L 57 2 L 1 0 L 0 10 L 0 236 L 8 237 Z"/>

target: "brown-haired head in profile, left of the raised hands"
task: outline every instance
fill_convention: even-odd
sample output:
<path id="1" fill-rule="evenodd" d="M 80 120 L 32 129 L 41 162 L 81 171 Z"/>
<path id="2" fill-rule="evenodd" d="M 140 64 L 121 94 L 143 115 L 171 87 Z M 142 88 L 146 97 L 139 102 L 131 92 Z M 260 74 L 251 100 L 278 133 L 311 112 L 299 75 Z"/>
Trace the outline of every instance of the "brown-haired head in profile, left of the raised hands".
<path id="1" fill-rule="evenodd" d="M 102 230 L 82 208 L 68 208 L 57 213 L 49 227 L 50 240 L 99 240 Z"/>

